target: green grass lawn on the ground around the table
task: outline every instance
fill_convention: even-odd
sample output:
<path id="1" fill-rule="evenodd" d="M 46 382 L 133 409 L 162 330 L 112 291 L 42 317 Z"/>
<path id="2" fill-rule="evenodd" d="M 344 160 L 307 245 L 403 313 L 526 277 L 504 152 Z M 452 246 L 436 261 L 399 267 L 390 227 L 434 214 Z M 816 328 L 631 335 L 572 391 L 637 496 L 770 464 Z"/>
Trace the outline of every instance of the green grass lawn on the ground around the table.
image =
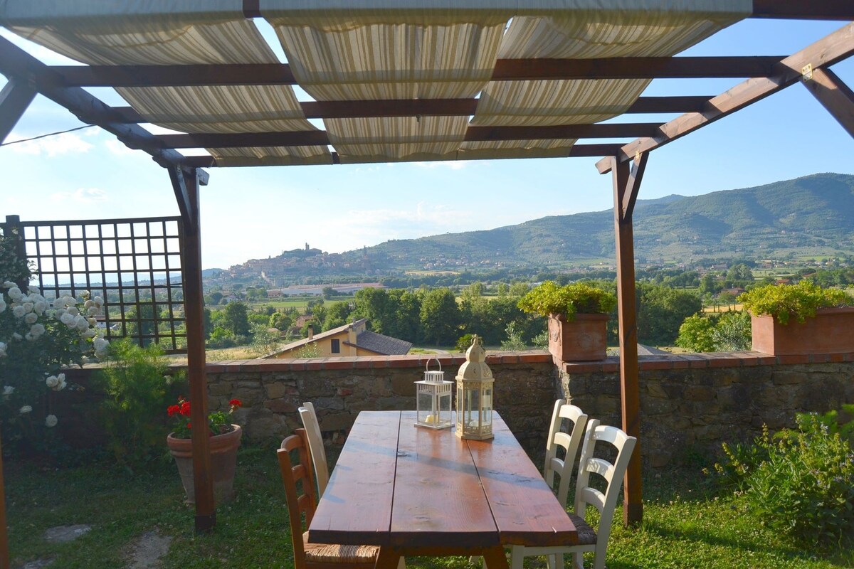
<path id="1" fill-rule="evenodd" d="M 46 467 L 5 461 L 7 518 L 12 567 L 52 559 L 50 567 L 130 566 L 135 540 L 149 531 L 172 537 L 162 567 L 292 567 L 284 490 L 272 447 L 240 450 L 236 498 L 217 511 L 209 534 L 193 532 L 193 510 L 174 464 L 164 460 L 132 475 L 98 462 Z M 608 554 L 610 569 L 635 567 L 854 566 L 854 546 L 796 543 L 762 525 L 726 496 L 705 491 L 699 468 L 647 477 L 644 522 L 626 529 L 615 516 Z M 50 544 L 44 531 L 56 525 L 88 524 L 76 541 Z M 531 567 L 545 566 L 538 560 Z M 468 560 L 408 559 L 412 569 L 469 569 Z"/>

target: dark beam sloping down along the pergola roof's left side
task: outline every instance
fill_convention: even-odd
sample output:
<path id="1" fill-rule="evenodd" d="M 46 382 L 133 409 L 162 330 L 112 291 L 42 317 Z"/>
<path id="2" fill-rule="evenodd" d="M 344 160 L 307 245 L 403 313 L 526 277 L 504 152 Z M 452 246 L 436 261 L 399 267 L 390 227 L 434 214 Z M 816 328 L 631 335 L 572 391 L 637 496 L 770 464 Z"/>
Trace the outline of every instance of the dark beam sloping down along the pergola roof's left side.
<path id="1" fill-rule="evenodd" d="M 0 73 L 30 85 L 51 101 L 66 107 L 83 122 L 98 125 L 114 134 L 127 146 L 142 149 L 163 167 L 183 164 L 184 156 L 161 148 L 149 131 L 111 119 L 114 117 L 111 107 L 79 87 L 67 87 L 59 74 L 6 38 L 0 38 Z"/>

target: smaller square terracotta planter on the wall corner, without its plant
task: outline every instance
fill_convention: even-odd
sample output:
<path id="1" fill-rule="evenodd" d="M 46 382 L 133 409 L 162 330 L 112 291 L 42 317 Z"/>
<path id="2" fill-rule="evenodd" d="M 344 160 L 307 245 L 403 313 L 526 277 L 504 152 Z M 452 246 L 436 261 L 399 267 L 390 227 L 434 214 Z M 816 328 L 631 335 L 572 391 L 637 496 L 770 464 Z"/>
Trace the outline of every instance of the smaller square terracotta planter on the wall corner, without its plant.
<path id="1" fill-rule="evenodd" d="M 607 314 L 548 317 L 548 351 L 563 362 L 595 362 L 607 356 Z"/>

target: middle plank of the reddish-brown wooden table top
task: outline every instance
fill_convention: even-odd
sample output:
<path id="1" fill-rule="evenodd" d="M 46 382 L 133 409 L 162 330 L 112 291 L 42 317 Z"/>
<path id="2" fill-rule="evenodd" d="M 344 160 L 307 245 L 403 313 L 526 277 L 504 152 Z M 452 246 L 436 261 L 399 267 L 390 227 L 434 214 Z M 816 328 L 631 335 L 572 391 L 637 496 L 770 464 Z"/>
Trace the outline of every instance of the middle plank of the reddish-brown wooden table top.
<path id="1" fill-rule="evenodd" d="M 401 414 L 391 531 L 395 546 L 498 545 L 471 453 L 453 429 L 415 427 Z"/>

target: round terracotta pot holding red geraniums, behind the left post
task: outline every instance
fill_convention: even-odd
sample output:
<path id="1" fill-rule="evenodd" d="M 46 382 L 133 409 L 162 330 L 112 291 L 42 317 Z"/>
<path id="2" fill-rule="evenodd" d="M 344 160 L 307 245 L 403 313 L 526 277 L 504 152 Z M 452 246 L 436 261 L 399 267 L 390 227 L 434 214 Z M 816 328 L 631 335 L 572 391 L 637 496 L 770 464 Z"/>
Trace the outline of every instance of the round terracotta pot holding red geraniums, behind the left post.
<path id="1" fill-rule="evenodd" d="M 231 425 L 231 433 L 211 437 L 211 472 L 213 473 L 213 500 L 225 502 L 234 496 L 234 473 L 237 469 L 237 447 L 243 430 L 240 425 Z M 193 483 L 193 442 L 190 438 L 174 438 L 169 433 L 166 438 L 169 452 L 175 457 L 181 483 L 187 494 L 187 502 L 196 502 L 196 485 Z"/>

